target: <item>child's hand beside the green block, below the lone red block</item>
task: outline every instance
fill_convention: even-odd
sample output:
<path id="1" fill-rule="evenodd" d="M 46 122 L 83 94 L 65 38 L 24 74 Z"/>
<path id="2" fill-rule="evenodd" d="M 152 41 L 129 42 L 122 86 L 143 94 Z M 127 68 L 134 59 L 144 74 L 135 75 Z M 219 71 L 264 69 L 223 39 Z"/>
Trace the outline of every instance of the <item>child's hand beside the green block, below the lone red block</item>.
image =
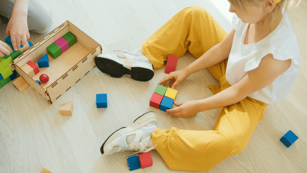
<path id="1" fill-rule="evenodd" d="M 185 80 L 189 76 L 188 72 L 185 69 L 173 71 L 170 72 L 168 75 L 166 75 L 159 83 L 158 85 L 166 85 L 166 82 L 170 80 L 170 86 L 172 89 L 175 89 L 180 82 Z"/>

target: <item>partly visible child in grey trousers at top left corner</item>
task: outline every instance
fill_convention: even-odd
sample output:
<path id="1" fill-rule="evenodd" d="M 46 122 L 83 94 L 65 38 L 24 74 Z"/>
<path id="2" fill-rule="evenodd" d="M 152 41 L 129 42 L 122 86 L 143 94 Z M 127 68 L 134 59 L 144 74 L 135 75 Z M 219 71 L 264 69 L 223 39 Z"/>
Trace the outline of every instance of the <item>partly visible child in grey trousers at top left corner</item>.
<path id="1" fill-rule="evenodd" d="M 10 19 L 6 34 L 11 36 L 15 51 L 20 50 L 20 45 L 24 45 L 30 38 L 29 30 L 45 33 L 52 24 L 52 14 L 38 0 L 2 0 L 0 15 Z M 0 57 L 10 53 L 10 47 L 0 41 Z"/>

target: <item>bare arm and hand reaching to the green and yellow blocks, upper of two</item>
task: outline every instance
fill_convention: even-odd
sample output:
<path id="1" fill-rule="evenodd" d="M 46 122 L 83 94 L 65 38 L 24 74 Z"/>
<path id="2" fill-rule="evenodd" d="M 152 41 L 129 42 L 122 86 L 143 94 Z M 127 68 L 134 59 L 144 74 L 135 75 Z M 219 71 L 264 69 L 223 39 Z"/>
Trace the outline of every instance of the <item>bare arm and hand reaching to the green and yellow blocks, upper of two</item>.
<path id="1" fill-rule="evenodd" d="M 171 84 L 171 88 L 175 89 L 178 84 L 185 80 L 185 78 L 187 78 L 189 75 L 208 68 L 210 66 L 213 66 L 228 58 L 234 35 L 235 29 L 232 29 L 230 33 L 226 36 L 226 38 L 223 40 L 223 42 L 213 46 L 200 58 L 196 59 L 184 69 L 169 73 L 158 84 L 165 86 L 167 81 L 175 81 L 173 85 Z"/>

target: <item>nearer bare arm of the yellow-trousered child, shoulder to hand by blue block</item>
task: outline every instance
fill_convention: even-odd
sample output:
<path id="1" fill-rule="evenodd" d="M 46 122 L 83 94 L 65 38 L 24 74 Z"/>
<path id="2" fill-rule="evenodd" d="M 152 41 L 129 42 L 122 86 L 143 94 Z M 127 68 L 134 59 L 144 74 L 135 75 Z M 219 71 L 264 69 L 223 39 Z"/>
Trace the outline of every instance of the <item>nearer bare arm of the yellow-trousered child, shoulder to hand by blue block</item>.
<path id="1" fill-rule="evenodd" d="M 277 60 L 272 54 L 262 58 L 259 66 L 251 70 L 235 85 L 202 100 L 175 103 L 176 108 L 166 110 L 167 113 L 177 118 L 190 117 L 197 112 L 229 106 L 246 98 L 251 93 L 261 90 L 272 83 L 280 74 L 291 65 L 291 60 Z"/>

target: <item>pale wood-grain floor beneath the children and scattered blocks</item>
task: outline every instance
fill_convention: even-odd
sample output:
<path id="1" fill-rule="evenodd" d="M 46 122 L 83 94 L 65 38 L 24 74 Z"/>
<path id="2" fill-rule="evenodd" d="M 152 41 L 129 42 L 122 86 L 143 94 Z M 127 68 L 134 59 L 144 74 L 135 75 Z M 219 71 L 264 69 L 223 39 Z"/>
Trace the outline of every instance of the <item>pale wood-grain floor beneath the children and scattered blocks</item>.
<path id="1" fill-rule="evenodd" d="M 45 34 L 69 20 L 99 42 L 103 52 L 139 48 L 174 14 L 191 5 L 204 7 L 227 32 L 232 28 L 232 15 L 227 12 L 228 7 L 221 6 L 227 0 L 41 1 L 54 15 L 52 27 Z M 305 9 L 307 2 L 303 0 L 289 14 L 302 58 L 293 91 L 266 107 L 264 118 L 244 151 L 223 160 L 209 172 L 307 172 Z M 5 30 L 6 25 L 0 25 L 1 40 L 6 37 Z M 35 43 L 45 34 L 31 32 L 28 41 Z M 191 54 L 185 54 L 179 58 L 177 70 L 194 60 Z M 129 126 L 148 111 L 156 112 L 162 128 L 211 130 L 219 109 L 176 119 L 149 106 L 157 83 L 166 75 L 164 69 L 154 69 L 153 79 L 138 82 L 127 76 L 111 78 L 95 67 L 52 105 L 31 87 L 20 93 L 10 82 L 0 89 L 0 173 L 39 173 L 43 166 L 53 173 L 130 172 L 122 157 L 129 152 L 104 156 L 99 149 L 112 132 Z M 176 101 L 212 96 L 208 85 L 218 85 L 208 70 L 192 74 L 177 87 Z M 96 108 L 95 95 L 101 93 L 108 95 L 108 108 Z M 73 102 L 72 116 L 60 115 L 61 101 Z M 279 141 L 288 130 L 299 137 L 289 148 Z M 151 154 L 153 166 L 134 172 L 172 172 L 157 151 Z"/>

